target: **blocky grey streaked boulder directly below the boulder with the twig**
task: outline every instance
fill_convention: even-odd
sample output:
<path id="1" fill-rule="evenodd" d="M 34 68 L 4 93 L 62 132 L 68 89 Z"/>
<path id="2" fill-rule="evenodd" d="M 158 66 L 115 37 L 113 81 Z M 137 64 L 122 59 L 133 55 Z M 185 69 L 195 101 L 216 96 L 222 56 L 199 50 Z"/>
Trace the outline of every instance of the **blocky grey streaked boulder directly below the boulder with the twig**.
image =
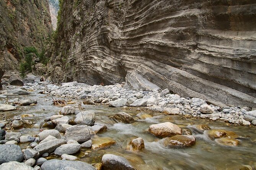
<path id="1" fill-rule="evenodd" d="M 66 140 L 75 140 L 78 142 L 86 142 L 91 139 L 90 129 L 87 125 L 74 125 L 67 128 L 65 133 Z"/>

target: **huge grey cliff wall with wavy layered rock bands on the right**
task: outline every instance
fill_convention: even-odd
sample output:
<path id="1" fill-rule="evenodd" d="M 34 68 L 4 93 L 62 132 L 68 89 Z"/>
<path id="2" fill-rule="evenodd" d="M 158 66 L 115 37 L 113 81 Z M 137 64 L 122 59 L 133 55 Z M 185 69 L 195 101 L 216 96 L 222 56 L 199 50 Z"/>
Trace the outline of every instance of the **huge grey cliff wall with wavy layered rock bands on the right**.
<path id="1" fill-rule="evenodd" d="M 51 78 L 256 107 L 255 18 L 254 0 L 65 0 Z"/>

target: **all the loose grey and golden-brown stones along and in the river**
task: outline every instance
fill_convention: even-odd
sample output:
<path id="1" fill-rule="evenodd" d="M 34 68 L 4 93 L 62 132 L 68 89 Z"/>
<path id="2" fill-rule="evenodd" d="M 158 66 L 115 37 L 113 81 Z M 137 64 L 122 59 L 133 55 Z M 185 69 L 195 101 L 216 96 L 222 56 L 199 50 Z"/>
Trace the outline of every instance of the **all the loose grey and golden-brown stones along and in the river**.
<path id="1" fill-rule="evenodd" d="M 109 127 L 96 121 L 95 111 L 87 109 L 89 106 L 104 104 L 122 108 L 124 111 L 147 110 L 165 115 L 166 120 L 163 123 L 150 123 L 147 126 L 147 133 L 155 136 L 155 140 L 165 148 L 194 146 L 198 138 L 195 134 L 198 133 L 205 134 L 207 138 L 222 146 L 238 146 L 241 143 L 240 136 L 235 132 L 211 129 L 209 125 L 193 125 L 190 130 L 170 122 L 170 115 L 181 115 L 187 119 L 208 119 L 211 122 L 225 121 L 244 126 L 256 125 L 256 111 L 251 111 L 249 107 L 214 106 L 199 98 L 183 98 L 170 94 L 168 89 L 153 92 L 134 91 L 123 88 L 122 84 L 90 86 L 77 82 L 62 83 L 58 86 L 49 81 L 40 82 L 36 76 L 13 82 L 17 85 L 22 82 L 23 86 L 8 85 L 5 82 L 0 95 L 0 169 L 137 169 L 127 158 L 110 153 L 103 154 L 101 161 L 92 165 L 79 161 L 77 153 L 81 153 L 83 149 L 108 148 L 118 143 L 109 137 L 98 137 L 99 134 L 108 132 Z M 15 95 L 21 97 L 11 97 Z M 36 107 L 40 104 L 33 98 L 36 95 L 42 95 L 42 98 L 52 97 L 53 102 L 59 106 L 59 111 L 44 118 L 44 122 L 39 125 L 40 133 L 24 134 L 20 130 L 32 128 L 34 124 L 24 118 L 32 117 L 33 114 L 20 114 L 10 118 L 5 113 L 23 112 L 27 107 Z M 43 111 L 45 109 L 43 108 Z M 140 123 L 139 120 L 151 117 L 153 116 L 142 112 L 136 116 L 117 112 L 109 116 L 108 121 Z M 148 141 L 145 143 L 144 140 L 141 136 L 130 136 L 125 147 L 130 151 L 140 151 L 148 147 Z M 83 154 L 86 156 L 90 152 Z"/>

